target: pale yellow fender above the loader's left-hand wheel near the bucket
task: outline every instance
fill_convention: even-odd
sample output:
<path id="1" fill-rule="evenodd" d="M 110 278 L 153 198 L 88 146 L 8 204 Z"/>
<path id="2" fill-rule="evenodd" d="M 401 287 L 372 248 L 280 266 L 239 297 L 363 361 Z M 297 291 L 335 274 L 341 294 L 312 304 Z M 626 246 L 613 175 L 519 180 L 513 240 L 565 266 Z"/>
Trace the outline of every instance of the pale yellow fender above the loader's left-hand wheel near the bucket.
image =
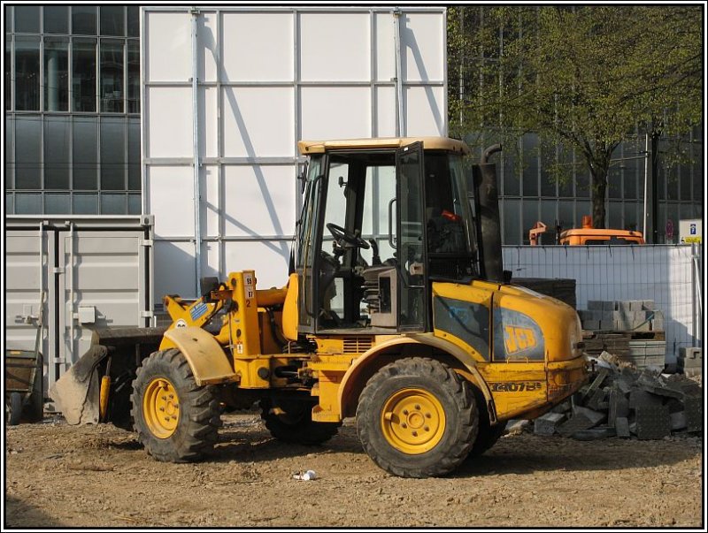
<path id="1" fill-rule="evenodd" d="M 178 348 L 187 359 L 196 385 L 213 385 L 236 380 L 234 367 L 229 362 L 224 348 L 209 331 L 196 327 L 174 328 L 165 331 L 165 339 Z"/>

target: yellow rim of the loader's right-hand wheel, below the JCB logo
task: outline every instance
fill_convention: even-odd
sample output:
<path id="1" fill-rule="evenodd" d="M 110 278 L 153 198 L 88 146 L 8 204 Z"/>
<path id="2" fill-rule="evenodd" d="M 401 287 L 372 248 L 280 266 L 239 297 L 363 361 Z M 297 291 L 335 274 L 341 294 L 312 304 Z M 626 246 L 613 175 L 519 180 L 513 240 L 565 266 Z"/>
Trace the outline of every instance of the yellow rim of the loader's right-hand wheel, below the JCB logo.
<path id="1" fill-rule="evenodd" d="M 381 410 L 381 429 L 389 444 L 410 455 L 435 448 L 445 432 L 445 411 L 433 394 L 402 389 Z"/>

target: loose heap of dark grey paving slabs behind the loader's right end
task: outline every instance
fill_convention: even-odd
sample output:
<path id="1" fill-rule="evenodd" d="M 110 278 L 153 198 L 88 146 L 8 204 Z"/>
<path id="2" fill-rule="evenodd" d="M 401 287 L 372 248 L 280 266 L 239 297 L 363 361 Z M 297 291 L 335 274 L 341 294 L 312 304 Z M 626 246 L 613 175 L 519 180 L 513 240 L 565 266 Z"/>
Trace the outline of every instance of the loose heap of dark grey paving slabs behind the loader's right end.
<path id="1" fill-rule="evenodd" d="M 679 374 L 610 365 L 588 385 L 535 420 L 537 435 L 595 438 L 665 438 L 703 430 L 702 388 Z"/>

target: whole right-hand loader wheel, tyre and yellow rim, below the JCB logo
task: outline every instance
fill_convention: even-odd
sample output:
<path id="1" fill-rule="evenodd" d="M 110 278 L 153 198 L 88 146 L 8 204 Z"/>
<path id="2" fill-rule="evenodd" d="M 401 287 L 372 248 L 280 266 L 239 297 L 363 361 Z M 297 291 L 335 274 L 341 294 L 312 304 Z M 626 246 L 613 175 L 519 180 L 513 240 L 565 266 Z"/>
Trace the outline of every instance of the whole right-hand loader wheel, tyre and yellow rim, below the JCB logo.
<path id="1" fill-rule="evenodd" d="M 359 398 L 359 439 L 372 461 L 395 476 L 449 474 L 465 461 L 477 427 L 472 387 L 428 358 L 386 365 Z"/>

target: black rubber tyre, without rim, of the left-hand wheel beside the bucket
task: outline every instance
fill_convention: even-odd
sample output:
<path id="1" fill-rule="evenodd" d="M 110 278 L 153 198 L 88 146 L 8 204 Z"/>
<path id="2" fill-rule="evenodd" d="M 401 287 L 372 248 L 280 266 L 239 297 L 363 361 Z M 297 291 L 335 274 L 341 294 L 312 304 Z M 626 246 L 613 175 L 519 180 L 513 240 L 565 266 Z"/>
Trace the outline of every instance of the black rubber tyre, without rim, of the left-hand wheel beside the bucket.
<path id="1" fill-rule="evenodd" d="M 156 438 L 142 415 L 145 386 L 155 377 L 169 379 L 180 399 L 180 419 L 169 438 Z M 189 362 L 180 350 L 171 348 L 150 354 L 137 369 L 131 395 L 134 428 L 145 450 L 165 462 L 199 461 L 211 453 L 221 426 L 217 392 L 214 385 L 196 385 Z"/>

